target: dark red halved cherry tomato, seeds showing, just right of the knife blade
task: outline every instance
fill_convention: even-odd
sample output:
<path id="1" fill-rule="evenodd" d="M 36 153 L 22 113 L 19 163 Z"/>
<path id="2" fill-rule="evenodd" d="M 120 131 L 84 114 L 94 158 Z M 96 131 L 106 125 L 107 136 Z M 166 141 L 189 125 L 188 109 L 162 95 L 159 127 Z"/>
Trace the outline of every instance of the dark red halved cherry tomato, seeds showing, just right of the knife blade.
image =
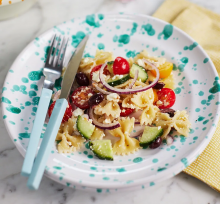
<path id="1" fill-rule="evenodd" d="M 92 88 L 88 86 L 80 86 L 72 93 L 72 102 L 81 109 L 89 108 L 89 98 L 95 94 Z"/>

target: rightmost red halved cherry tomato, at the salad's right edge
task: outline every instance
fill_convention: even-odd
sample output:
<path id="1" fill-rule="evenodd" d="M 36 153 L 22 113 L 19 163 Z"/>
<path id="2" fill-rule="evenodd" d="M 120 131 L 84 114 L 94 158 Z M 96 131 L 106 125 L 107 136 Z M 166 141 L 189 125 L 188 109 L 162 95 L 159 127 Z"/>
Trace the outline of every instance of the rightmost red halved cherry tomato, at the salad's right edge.
<path id="1" fill-rule="evenodd" d="M 176 101 L 176 95 L 172 89 L 163 88 L 157 92 L 158 101 L 161 101 L 161 104 L 158 104 L 158 108 L 165 109 L 170 108 L 174 105 Z"/>

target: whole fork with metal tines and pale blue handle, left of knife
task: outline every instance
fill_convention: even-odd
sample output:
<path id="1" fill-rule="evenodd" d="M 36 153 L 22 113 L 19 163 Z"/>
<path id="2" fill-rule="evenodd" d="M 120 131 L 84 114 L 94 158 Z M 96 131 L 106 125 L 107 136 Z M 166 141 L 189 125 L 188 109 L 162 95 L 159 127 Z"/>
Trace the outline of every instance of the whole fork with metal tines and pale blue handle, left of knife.
<path id="1" fill-rule="evenodd" d="M 24 163 L 23 163 L 22 170 L 21 170 L 22 176 L 29 176 L 31 173 L 32 166 L 34 163 L 34 158 L 35 158 L 37 148 L 38 148 L 38 143 L 39 143 L 40 136 L 41 136 L 41 131 L 43 128 L 43 124 L 44 124 L 46 114 L 47 114 L 47 109 L 48 109 L 50 99 L 52 96 L 54 83 L 56 79 L 60 78 L 61 73 L 62 73 L 63 61 L 64 61 L 64 56 L 65 56 L 68 40 L 65 44 L 65 39 L 63 39 L 60 45 L 60 49 L 58 50 L 59 42 L 61 42 L 61 38 L 59 37 L 55 51 L 52 55 L 55 42 L 56 42 L 56 35 L 54 35 L 53 37 L 50 50 L 49 50 L 49 54 L 47 56 L 46 63 L 43 69 L 43 74 L 45 76 L 44 85 L 43 85 L 43 89 L 41 92 L 40 101 L 39 101 L 39 105 L 37 108 L 36 117 L 34 120 L 34 125 L 31 131 L 27 152 L 26 152 Z M 63 49 L 64 51 L 63 51 L 63 56 L 62 56 L 61 52 Z M 56 57 L 57 52 L 59 52 L 59 54 Z M 62 59 L 60 59 L 61 56 L 62 56 Z"/>

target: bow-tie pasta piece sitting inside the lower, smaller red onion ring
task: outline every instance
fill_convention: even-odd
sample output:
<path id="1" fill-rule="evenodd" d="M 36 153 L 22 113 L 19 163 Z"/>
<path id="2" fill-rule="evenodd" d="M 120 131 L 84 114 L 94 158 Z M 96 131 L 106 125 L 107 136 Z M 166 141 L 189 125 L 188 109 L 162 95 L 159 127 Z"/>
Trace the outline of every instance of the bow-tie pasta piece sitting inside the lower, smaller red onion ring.
<path id="1" fill-rule="evenodd" d="M 118 103 L 105 100 L 94 108 L 94 113 L 96 115 L 106 114 L 107 116 L 113 116 L 117 118 L 120 116 L 121 109 Z"/>

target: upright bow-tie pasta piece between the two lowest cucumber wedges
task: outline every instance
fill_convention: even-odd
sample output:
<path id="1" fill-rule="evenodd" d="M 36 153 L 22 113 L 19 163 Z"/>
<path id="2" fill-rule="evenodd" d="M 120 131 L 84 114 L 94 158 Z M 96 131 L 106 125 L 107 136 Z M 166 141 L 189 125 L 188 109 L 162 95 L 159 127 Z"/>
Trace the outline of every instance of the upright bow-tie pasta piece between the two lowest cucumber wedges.
<path id="1" fill-rule="evenodd" d="M 114 130 L 109 130 L 110 134 L 114 137 L 120 137 L 113 146 L 113 152 L 116 155 L 128 155 L 137 151 L 140 146 L 138 140 L 129 137 L 131 131 L 134 128 L 134 118 L 119 119 L 121 127 Z"/>

